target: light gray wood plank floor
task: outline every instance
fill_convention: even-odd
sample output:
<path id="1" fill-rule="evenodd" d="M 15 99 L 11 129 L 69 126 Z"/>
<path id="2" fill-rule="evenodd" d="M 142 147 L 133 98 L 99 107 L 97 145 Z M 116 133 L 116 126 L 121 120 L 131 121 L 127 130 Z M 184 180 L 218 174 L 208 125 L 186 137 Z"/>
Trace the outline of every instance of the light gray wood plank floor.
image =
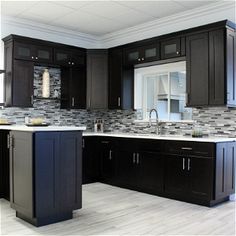
<path id="1" fill-rule="evenodd" d="M 235 235 L 235 202 L 208 208 L 101 183 L 83 186 L 72 220 L 36 228 L 0 200 L 2 235 Z"/>

